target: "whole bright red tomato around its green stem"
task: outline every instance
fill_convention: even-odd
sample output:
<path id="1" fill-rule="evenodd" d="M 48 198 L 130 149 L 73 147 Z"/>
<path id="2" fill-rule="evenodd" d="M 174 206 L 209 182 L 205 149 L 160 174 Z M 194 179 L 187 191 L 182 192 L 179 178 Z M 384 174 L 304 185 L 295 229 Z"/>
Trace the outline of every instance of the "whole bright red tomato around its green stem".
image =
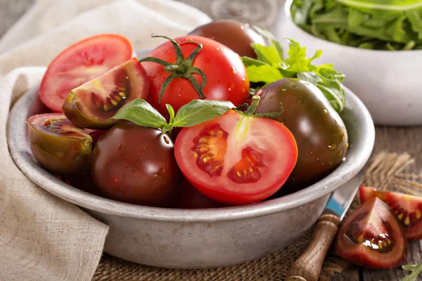
<path id="1" fill-rule="evenodd" d="M 197 41 L 203 44 L 202 50 L 193 60 L 193 66 L 205 73 L 207 82 L 203 93 L 207 99 L 229 100 L 236 106 L 245 103 L 249 97 L 249 79 L 245 65 L 238 54 L 223 44 L 205 37 L 179 37 L 174 41 L 178 43 Z M 196 44 L 181 44 L 184 58 L 188 58 L 196 47 Z M 160 58 L 170 63 L 176 62 L 176 52 L 170 41 L 155 48 L 148 57 Z M 142 65 L 150 80 L 147 101 L 167 119 L 169 117 L 165 106 L 167 103 L 172 105 L 174 111 L 177 112 L 182 105 L 200 98 L 198 91 L 193 88 L 190 81 L 177 78 L 170 82 L 162 94 L 160 105 L 158 105 L 162 84 L 170 76 L 170 73 L 165 72 L 164 66 L 158 63 L 143 62 Z M 199 74 L 193 74 L 193 77 L 198 80 L 199 84 L 202 83 L 202 77 Z"/>

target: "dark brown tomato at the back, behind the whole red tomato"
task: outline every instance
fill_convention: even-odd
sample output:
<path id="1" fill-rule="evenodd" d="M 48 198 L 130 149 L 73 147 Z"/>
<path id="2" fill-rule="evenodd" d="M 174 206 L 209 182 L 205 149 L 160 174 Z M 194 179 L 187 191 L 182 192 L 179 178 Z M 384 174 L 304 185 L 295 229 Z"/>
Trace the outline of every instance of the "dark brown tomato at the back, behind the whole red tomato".
<path id="1" fill-rule="evenodd" d="M 250 47 L 251 43 L 266 44 L 264 38 L 247 23 L 236 22 L 235 20 L 210 22 L 197 27 L 189 35 L 210 38 L 231 48 L 238 55 L 245 55 L 249 58 L 257 58 Z"/>

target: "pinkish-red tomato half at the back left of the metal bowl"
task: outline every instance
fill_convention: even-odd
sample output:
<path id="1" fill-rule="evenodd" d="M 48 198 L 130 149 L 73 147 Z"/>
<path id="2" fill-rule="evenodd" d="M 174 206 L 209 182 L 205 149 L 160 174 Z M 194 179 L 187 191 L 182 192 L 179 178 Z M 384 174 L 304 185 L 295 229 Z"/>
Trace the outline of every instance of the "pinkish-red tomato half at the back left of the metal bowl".
<path id="1" fill-rule="evenodd" d="M 39 86 L 39 98 L 53 112 L 61 112 L 68 93 L 134 57 L 126 37 L 101 34 L 73 44 L 54 58 Z"/>

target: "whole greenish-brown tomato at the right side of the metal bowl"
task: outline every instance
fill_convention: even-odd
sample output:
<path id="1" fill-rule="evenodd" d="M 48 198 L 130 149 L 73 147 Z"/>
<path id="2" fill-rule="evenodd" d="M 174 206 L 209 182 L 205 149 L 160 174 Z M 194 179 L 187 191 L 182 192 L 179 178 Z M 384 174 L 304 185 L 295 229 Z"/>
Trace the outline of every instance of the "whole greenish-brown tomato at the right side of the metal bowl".
<path id="1" fill-rule="evenodd" d="M 347 130 L 340 115 L 316 86 L 299 79 L 282 79 L 257 91 L 261 97 L 255 113 L 280 112 L 283 123 L 298 144 L 298 162 L 286 188 L 305 188 L 333 171 L 345 157 Z"/>

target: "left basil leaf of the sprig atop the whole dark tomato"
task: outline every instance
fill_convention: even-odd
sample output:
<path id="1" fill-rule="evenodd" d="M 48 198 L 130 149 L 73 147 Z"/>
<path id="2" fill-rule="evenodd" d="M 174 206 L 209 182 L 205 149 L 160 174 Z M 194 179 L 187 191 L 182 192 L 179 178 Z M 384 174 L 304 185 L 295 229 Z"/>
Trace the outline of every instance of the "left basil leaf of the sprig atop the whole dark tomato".
<path id="1" fill-rule="evenodd" d="M 161 129 L 167 121 L 160 112 L 155 110 L 149 103 L 140 98 L 132 100 L 124 105 L 111 119 L 125 119 L 140 126 L 147 126 Z"/>

